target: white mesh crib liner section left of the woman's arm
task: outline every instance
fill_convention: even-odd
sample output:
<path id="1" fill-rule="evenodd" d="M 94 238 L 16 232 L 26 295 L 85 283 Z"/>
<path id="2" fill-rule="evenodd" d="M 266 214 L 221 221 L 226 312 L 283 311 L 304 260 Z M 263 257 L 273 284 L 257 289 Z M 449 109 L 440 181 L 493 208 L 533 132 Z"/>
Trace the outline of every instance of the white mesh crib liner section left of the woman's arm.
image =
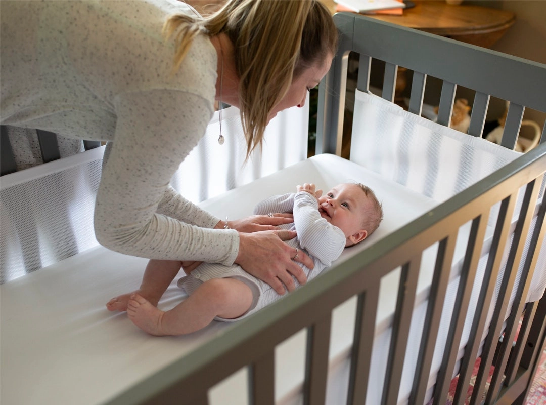
<path id="1" fill-rule="evenodd" d="M 102 159 L 87 161 L 2 187 L 1 283 L 98 244 L 93 210 L 101 165 Z"/>

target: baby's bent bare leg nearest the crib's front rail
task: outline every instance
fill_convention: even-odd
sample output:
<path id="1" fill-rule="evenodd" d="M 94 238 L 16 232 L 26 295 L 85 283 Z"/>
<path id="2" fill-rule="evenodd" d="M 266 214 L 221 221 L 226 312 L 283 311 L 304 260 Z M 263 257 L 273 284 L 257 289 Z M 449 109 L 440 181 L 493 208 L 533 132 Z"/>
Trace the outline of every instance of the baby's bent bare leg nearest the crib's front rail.
<path id="1" fill-rule="evenodd" d="M 209 325 L 215 316 L 238 318 L 251 304 L 252 290 L 248 285 L 232 278 L 219 278 L 205 281 L 185 301 L 167 312 L 135 294 L 129 301 L 127 314 L 147 333 L 177 335 L 198 331 Z"/>

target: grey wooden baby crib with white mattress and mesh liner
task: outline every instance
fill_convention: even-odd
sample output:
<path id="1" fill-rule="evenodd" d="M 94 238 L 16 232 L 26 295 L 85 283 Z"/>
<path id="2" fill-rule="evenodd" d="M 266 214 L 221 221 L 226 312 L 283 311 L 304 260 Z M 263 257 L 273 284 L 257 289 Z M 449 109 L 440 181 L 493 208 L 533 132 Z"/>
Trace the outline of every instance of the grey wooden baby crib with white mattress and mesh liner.
<path id="1" fill-rule="evenodd" d="M 263 169 L 256 157 L 235 175 L 244 159 L 236 145 L 233 177 L 221 180 L 229 191 L 207 198 L 200 184 L 218 146 L 205 140 L 183 163 L 199 184 L 179 187 L 221 218 L 240 218 L 302 182 L 358 180 L 383 202 L 378 230 L 246 320 L 157 338 L 104 307 L 138 287 L 146 260 L 98 246 L 89 216 L 64 215 L 92 212 L 103 147 L 4 175 L 2 275 L 22 269 L 0 286 L 0 402 L 444 404 L 458 375 L 454 403 L 464 403 L 480 357 L 471 403 L 524 403 L 545 347 L 546 128 L 535 149 L 512 149 L 524 108 L 546 112 L 546 66 L 357 14 L 334 18 L 341 43 L 319 87 L 316 155 L 302 151 L 305 120 L 292 132 L 268 128 L 276 133 L 266 134 L 264 159 L 272 148 L 282 161 Z M 349 52 L 359 68 L 345 159 Z M 385 66 L 380 95 L 370 92 L 372 58 Z M 393 103 L 399 66 L 413 72 L 409 111 Z M 421 116 L 427 77 L 443 80 L 437 122 Z M 458 85 L 476 91 L 468 134 L 449 128 Z M 481 139 L 490 97 L 510 102 L 501 145 Z M 235 139 L 237 114 L 224 117 Z M 299 146 L 269 142 L 281 133 Z M 51 191 L 58 184 L 67 199 Z M 27 272 L 33 243 L 55 246 L 34 252 L 50 264 Z M 160 306 L 181 299 L 175 280 Z"/>

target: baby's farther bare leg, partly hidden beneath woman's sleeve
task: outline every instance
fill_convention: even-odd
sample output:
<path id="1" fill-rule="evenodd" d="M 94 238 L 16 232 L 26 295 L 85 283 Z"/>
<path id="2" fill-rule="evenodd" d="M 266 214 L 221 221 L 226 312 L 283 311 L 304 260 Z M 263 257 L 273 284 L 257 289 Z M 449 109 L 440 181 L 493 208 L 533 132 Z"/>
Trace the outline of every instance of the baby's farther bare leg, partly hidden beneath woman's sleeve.
<path id="1" fill-rule="evenodd" d="M 180 271 L 181 265 L 182 263 L 179 260 L 150 260 L 144 271 L 140 288 L 112 298 L 106 303 L 106 308 L 110 311 L 126 311 L 127 303 L 132 294 L 139 294 L 157 307 L 159 299 L 165 294 L 171 281 Z"/>

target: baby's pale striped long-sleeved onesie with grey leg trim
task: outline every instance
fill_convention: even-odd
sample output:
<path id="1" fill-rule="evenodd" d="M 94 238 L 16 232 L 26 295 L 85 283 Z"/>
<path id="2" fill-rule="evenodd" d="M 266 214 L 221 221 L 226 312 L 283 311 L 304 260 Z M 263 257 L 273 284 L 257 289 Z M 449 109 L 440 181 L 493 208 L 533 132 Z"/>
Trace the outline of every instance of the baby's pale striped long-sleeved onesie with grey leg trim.
<path id="1" fill-rule="evenodd" d="M 322 218 L 318 211 L 316 198 L 305 191 L 273 196 L 258 203 L 254 208 L 254 214 L 268 213 L 293 213 L 294 222 L 280 225 L 278 228 L 298 233 L 297 238 L 287 240 L 287 243 L 304 251 L 313 260 L 314 268 L 312 270 L 298 263 L 304 270 L 307 280 L 311 280 L 329 267 L 345 248 L 347 239 L 343 231 Z M 269 284 L 246 273 L 238 265 L 224 266 L 218 263 L 203 263 L 188 276 L 179 279 L 177 284 L 188 294 L 192 294 L 206 280 L 228 277 L 247 284 L 252 290 L 253 300 L 250 309 L 239 318 L 217 318 L 218 320 L 229 322 L 245 318 L 282 297 Z M 294 281 L 296 287 L 299 287 L 298 280 L 294 278 Z"/>

